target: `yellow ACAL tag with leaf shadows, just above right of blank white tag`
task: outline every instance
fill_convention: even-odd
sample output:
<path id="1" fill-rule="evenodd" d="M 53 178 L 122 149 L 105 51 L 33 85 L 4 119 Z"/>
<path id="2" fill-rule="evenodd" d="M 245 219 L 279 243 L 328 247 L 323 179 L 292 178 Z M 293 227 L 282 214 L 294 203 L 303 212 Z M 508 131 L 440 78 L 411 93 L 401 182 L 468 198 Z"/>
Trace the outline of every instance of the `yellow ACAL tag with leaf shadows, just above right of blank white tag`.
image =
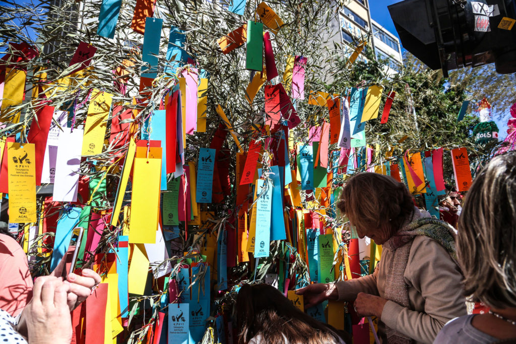
<path id="1" fill-rule="evenodd" d="M 112 97 L 112 94 L 97 89 L 91 92 L 88 116 L 84 124 L 82 155 L 102 153 Z"/>

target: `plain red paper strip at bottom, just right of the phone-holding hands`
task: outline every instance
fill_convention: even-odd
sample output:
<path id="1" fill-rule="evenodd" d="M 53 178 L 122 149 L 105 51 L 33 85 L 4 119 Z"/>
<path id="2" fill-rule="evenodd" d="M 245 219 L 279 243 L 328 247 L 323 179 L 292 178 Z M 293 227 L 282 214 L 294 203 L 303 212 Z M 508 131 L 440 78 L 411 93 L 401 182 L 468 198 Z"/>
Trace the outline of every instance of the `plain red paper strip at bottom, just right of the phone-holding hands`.
<path id="1" fill-rule="evenodd" d="M 104 344 L 107 283 L 101 283 L 86 299 L 86 342 Z"/>

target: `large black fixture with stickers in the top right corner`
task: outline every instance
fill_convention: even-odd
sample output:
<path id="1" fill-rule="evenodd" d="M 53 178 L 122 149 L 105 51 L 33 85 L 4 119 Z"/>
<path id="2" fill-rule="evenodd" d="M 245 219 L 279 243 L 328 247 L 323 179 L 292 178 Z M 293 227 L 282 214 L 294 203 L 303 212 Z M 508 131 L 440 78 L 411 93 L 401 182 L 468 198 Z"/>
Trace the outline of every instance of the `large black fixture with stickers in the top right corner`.
<path id="1" fill-rule="evenodd" d="M 516 0 L 405 0 L 388 6 L 401 44 L 431 69 L 494 62 L 516 73 Z"/>

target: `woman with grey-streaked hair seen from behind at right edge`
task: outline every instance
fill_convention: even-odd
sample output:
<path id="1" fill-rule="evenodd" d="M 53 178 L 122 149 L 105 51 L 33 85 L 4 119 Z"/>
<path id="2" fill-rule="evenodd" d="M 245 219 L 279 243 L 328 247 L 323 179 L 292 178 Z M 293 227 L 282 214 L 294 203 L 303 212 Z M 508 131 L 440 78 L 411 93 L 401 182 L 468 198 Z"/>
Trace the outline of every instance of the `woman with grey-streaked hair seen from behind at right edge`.
<path id="1" fill-rule="evenodd" d="M 467 193 L 457 249 L 464 293 L 489 313 L 444 326 L 435 343 L 516 342 L 516 153 L 492 159 Z"/>

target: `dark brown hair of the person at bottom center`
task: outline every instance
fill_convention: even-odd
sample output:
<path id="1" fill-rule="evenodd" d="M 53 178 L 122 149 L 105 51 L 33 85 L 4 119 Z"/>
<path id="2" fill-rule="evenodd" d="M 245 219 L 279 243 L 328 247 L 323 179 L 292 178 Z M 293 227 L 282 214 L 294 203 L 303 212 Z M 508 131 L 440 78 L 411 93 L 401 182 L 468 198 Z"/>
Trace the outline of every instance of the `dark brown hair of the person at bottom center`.
<path id="1" fill-rule="evenodd" d="M 236 317 L 238 344 L 247 344 L 258 334 L 267 344 L 283 344 L 285 338 L 290 344 L 328 344 L 341 340 L 337 333 L 342 331 L 301 312 L 268 284 L 246 284 L 240 288 Z"/>

